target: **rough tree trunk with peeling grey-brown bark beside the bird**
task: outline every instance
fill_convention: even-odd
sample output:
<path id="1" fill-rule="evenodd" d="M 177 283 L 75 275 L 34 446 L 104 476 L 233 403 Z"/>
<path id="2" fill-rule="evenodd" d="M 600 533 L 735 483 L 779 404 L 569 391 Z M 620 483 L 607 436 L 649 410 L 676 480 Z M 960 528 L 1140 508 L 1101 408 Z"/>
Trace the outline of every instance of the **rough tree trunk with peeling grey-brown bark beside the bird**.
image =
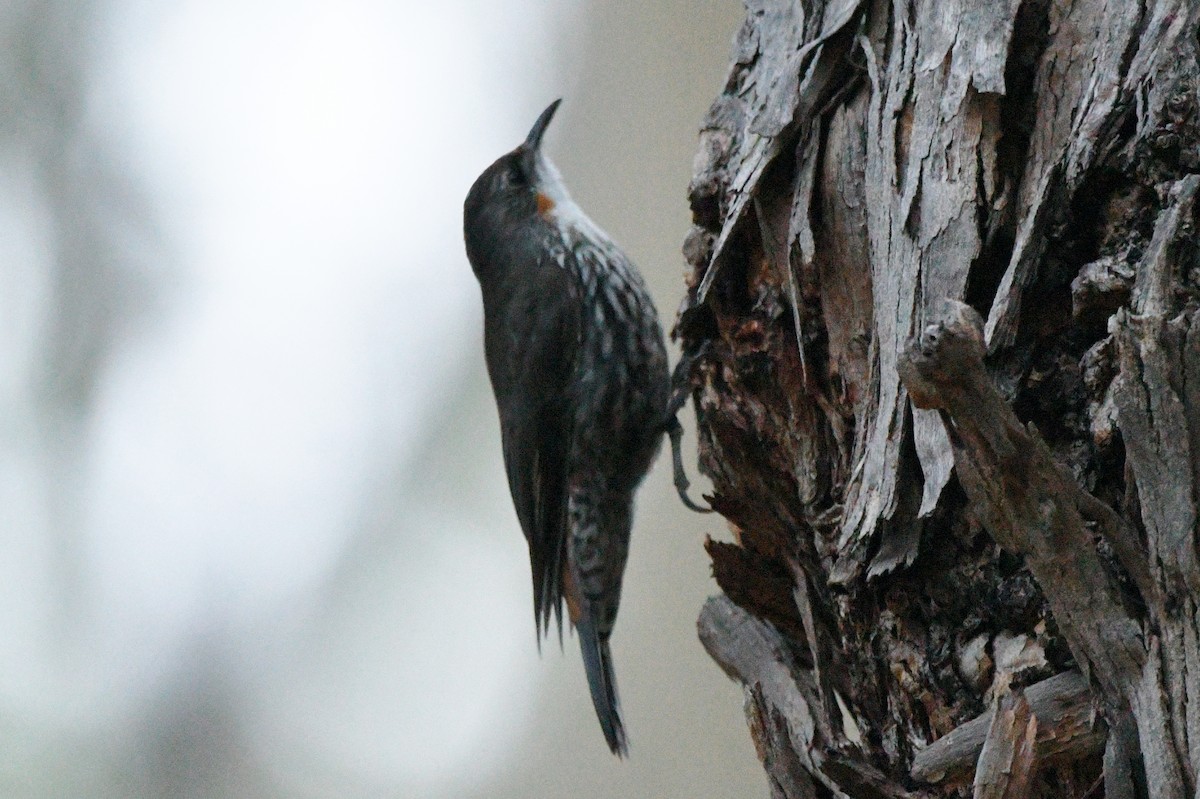
<path id="1" fill-rule="evenodd" d="M 677 335 L 775 797 L 1193 797 L 1200 0 L 748 0 Z"/>

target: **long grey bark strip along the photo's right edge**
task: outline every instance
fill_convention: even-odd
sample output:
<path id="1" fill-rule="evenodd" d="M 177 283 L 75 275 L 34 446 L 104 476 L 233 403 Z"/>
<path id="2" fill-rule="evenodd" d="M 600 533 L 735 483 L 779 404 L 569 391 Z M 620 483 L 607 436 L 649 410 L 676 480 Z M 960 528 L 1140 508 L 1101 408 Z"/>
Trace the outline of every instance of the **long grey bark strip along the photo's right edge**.
<path id="1" fill-rule="evenodd" d="M 1157 583 L 1159 635 L 1136 720 L 1147 775 L 1153 770 L 1153 779 L 1180 792 L 1195 786 L 1200 771 L 1200 313 L 1178 308 L 1171 287 L 1193 263 L 1198 192 L 1196 175 L 1164 192 L 1168 208 L 1139 263 L 1130 311 L 1112 323 L 1121 365 L 1114 386 L 1117 423 Z"/>

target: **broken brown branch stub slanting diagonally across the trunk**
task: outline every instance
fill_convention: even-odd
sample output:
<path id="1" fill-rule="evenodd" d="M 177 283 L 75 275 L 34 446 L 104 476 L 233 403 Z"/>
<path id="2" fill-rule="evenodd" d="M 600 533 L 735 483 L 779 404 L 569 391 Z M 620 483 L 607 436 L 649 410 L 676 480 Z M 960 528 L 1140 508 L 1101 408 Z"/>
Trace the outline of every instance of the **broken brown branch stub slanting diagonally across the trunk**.
<path id="1" fill-rule="evenodd" d="M 943 301 L 937 318 L 905 347 L 901 379 L 914 403 L 941 413 L 973 511 L 1002 547 L 1025 557 L 1105 703 L 1135 702 L 1146 661 L 1140 621 L 1084 522 L 1082 489 L 992 385 L 980 322 L 970 306 Z M 1144 565 L 1132 565 L 1145 573 Z"/>

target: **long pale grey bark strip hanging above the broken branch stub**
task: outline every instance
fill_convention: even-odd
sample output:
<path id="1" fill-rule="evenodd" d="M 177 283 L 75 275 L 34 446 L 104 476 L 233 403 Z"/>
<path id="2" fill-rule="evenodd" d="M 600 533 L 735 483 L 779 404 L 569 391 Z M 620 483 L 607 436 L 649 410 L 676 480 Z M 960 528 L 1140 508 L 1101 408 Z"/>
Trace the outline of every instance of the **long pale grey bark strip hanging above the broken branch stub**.
<path id="1" fill-rule="evenodd" d="M 1001 54 L 1008 52 L 1015 13 L 1015 2 L 896 4 L 890 40 L 864 43 L 878 400 L 856 447 L 862 476 L 848 489 L 844 551 L 898 510 L 908 415 L 896 356 L 931 301 L 964 296 L 985 235 L 976 209 L 1000 202 L 996 92 L 1003 90 Z M 950 477 L 953 455 L 936 415 L 916 411 L 912 435 L 924 474 L 917 516 L 924 517 Z"/>

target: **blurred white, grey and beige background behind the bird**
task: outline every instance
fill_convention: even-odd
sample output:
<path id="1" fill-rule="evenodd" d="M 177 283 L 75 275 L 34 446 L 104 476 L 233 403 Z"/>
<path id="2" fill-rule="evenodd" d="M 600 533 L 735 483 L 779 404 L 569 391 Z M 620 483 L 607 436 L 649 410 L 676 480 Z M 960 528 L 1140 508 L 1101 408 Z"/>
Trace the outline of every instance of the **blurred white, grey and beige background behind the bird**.
<path id="1" fill-rule="evenodd" d="M 695 636 L 724 530 L 670 458 L 614 637 L 628 762 L 576 642 L 538 656 L 461 242 L 563 96 L 547 149 L 670 320 L 742 14 L 0 6 L 0 795 L 766 795 Z"/>

